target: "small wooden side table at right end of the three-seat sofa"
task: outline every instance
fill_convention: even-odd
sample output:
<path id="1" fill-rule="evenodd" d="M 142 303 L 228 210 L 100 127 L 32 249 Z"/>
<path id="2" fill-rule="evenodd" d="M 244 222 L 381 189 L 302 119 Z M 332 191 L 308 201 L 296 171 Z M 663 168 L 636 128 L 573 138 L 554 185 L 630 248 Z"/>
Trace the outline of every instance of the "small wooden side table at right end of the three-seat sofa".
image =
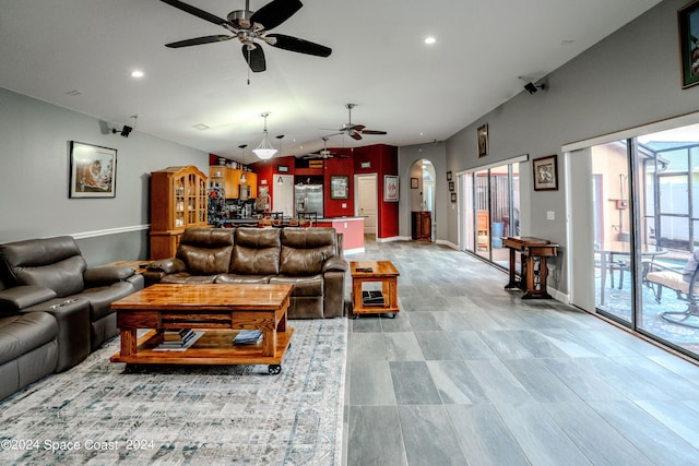
<path id="1" fill-rule="evenodd" d="M 400 272 L 390 261 L 359 261 L 350 262 L 352 273 L 352 313 L 378 314 L 401 311 L 398 306 L 398 277 Z M 380 283 L 383 295 L 382 304 L 367 306 L 362 299 L 362 285 L 365 283 Z"/>

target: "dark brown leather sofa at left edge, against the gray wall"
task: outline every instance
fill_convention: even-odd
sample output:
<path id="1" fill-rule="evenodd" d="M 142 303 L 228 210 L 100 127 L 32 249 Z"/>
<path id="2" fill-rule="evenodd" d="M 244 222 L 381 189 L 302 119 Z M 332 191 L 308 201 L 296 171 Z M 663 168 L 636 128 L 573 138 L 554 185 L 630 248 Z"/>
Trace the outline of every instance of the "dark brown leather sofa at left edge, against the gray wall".
<path id="1" fill-rule="evenodd" d="M 143 284 L 131 267 L 87 268 L 72 237 L 0 244 L 0 399 L 117 335 L 111 302 Z"/>

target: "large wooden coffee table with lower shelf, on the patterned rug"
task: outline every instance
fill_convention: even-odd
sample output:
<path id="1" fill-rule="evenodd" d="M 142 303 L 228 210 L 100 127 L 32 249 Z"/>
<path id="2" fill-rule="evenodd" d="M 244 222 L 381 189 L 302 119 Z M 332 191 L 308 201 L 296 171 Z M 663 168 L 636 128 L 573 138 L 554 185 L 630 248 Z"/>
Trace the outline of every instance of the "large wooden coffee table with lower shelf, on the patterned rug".
<path id="1" fill-rule="evenodd" d="M 155 284 L 111 304 L 117 311 L 121 349 L 112 362 L 157 365 L 269 365 L 281 371 L 294 328 L 286 326 L 289 284 Z M 152 328 L 138 338 L 139 328 Z M 190 348 L 155 348 L 168 328 L 203 330 Z M 262 340 L 233 345 L 241 330 L 261 330 Z"/>

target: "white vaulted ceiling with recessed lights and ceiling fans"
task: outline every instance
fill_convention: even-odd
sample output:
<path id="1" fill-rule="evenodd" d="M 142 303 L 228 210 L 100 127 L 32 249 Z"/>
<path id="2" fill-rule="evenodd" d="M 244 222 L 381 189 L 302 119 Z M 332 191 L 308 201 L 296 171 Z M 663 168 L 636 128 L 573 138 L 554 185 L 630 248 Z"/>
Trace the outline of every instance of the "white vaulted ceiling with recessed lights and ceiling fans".
<path id="1" fill-rule="evenodd" d="M 329 58 L 265 46 L 250 73 L 237 40 L 169 49 L 226 31 L 157 0 L 0 0 L 0 87 L 190 147 L 240 159 L 262 136 L 284 155 L 322 147 L 352 122 L 387 135 L 329 147 L 441 141 L 659 0 L 303 0 L 273 33 Z M 225 17 L 245 0 L 186 0 Z M 266 0 L 250 0 L 257 10 Z M 424 44 L 434 36 L 434 45 Z M 133 79 L 132 70 L 145 76 Z M 70 95 L 78 91 L 79 95 Z M 138 115 L 138 120 L 131 116 Z M 194 124 L 209 130 L 200 131 Z M 118 138 L 118 136 L 115 136 Z M 300 146 L 303 145 L 303 148 Z"/>

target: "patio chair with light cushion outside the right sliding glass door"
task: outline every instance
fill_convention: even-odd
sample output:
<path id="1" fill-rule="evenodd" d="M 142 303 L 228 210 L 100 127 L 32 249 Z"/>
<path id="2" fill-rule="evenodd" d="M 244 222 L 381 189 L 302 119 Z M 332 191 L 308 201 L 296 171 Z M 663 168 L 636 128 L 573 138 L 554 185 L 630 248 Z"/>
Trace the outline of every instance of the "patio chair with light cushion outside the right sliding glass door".
<path id="1" fill-rule="evenodd" d="M 699 249 L 687 261 L 680 271 L 653 264 L 653 268 L 645 275 L 645 280 L 654 285 L 655 300 L 660 304 L 663 287 L 677 294 L 677 299 L 687 302 L 685 311 L 665 311 L 660 316 L 666 322 L 677 325 L 699 328 Z M 694 319 L 692 319 L 694 318 Z"/>

